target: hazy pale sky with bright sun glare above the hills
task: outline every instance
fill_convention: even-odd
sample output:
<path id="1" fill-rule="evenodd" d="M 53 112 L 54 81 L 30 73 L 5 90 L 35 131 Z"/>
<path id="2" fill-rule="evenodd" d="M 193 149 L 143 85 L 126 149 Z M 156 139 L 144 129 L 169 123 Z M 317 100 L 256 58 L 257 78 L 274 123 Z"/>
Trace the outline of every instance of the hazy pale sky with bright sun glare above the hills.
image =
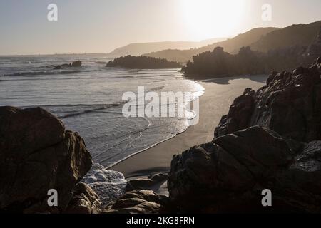
<path id="1" fill-rule="evenodd" d="M 48 21 L 47 6 L 58 6 Z M 272 21 L 261 7 L 272 6 Z M 0 0 L 0 54 L 107 53 L 128 43 L 198 41 L 321 20 L 320 0 Z"/>

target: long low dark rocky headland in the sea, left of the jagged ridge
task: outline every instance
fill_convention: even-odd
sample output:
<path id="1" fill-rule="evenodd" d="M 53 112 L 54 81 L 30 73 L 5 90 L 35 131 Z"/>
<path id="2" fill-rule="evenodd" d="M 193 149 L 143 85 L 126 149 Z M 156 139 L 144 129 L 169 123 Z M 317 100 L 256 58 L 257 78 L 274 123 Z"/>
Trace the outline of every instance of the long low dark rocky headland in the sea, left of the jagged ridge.
<path id="1" fill-rule="evenodd" d="M 180 68 L 176 62 L 167 61 L 162 58 L 151 58 L 146 56 L 125 56 L 109 61 L 106 67 L 123 67 L 132 69 L 161 69 L 161 68 Z"/>

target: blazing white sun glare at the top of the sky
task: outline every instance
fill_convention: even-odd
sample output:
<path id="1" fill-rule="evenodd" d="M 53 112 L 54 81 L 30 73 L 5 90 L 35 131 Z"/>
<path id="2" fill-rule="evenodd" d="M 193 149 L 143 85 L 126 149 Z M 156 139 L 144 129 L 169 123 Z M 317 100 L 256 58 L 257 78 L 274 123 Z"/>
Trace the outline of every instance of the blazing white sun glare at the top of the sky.
<path id="1" fill-rule="evenodd" d="M 233 34 L 244 13 L 244 0 L 180 0 L 185 28 L 194 40 Z"/>

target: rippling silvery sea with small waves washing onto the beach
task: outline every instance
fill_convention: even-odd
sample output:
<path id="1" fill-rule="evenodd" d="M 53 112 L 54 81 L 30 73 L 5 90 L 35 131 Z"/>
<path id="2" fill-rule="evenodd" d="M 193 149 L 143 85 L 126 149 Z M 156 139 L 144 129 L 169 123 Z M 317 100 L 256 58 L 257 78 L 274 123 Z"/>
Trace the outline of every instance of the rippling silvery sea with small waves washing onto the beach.
<path id="1" fill-rule="evenodd" d="M 81 68 L 52 67 L 77 60 L 82 61 Z M 40 106 L 54 113 L 68 130 L 83 137 L 91 152 L 95 165 L 84 180 L 91 185 L 115 182 L 123 186 L 123 176 L 105 168 L 182 133 L 195 117 L 185 110 L 190 112 L 186 118 L 126 118 L 123 93 L 137 94 L 138 86 L 144 86 L 146 93 L 193 92 L 189 100 L 194 100 L 203 95 L 204 88 L 183 78 L 178 68 L 106 68 L 109 60 L 103 55 L 2 56 L 0 105 Z M 116 192 L 121 194 L 119 189 Z"/>

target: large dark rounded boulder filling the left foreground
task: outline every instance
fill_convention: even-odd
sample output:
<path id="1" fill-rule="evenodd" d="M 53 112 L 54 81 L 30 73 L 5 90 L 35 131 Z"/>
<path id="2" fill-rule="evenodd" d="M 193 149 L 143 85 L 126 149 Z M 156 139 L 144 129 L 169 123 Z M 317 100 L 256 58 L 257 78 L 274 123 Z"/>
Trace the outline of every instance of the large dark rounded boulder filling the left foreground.
<path id="1" fill-rule="evenodd" d="M 0 210 L 64 212 L 91 168 L 83 139 L 42 108 L 1 107 L 0 123 Z M 46 202 L 51 189 L 58 207 Z"/>

